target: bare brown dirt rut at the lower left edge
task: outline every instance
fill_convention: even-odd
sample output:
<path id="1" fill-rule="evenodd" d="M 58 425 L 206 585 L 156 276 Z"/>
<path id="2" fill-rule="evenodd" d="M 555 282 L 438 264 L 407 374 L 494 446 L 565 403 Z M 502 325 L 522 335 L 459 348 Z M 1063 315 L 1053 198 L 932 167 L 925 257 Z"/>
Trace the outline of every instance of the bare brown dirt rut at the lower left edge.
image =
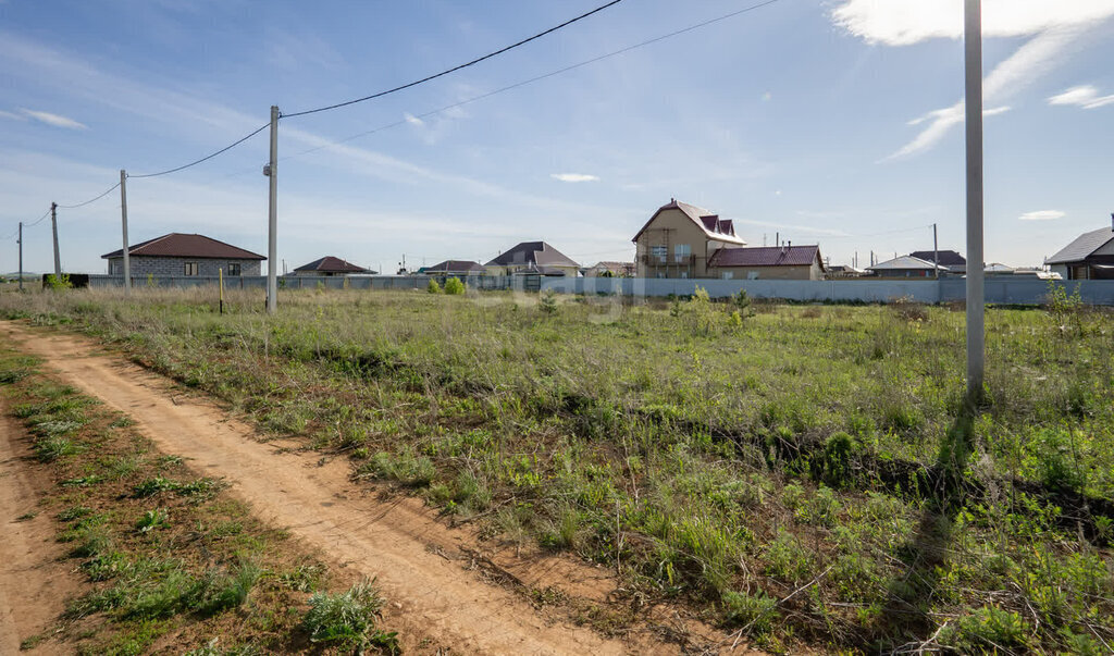
<path id="1" fill-rule="evenodd" d="M 52 624 L 81 589 L 81 577 L 61 560 L 53 518 L 38 512 L 52 481 L 33 467 L 23 435 L 21 425 L 0 415 L 0 654 L 19 653 L 20 643 Z"/>

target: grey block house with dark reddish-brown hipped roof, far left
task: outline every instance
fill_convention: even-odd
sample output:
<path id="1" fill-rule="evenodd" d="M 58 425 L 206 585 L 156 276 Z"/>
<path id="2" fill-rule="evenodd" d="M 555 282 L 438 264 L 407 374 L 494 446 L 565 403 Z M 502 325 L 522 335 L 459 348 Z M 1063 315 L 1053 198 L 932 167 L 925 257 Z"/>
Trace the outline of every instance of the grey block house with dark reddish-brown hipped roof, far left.
<path id="1" fill-rule="evenodd" d="M 124 249 L 100 256 L 108 261 L 108 275 L 124 275 Z M 205 235 L 170 233 L 128 246 L 133 276 L 260 275 L 266 257 Z"/>

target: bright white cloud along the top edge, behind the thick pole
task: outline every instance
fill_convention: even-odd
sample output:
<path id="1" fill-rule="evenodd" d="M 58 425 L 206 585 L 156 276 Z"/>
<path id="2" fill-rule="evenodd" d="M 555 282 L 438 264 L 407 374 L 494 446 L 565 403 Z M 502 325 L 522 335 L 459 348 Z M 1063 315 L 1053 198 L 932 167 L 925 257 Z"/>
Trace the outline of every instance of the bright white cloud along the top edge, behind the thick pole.
<path id="1" fill-rule="evenodd" d="M 868 43 L 909 46 L 964 33 L 964 0 L 847 0 L 832 20 Z M 1025 37 L 1094 25 L 1114 16 L 1110 0 L 984 0 L 984 37 Z"/>

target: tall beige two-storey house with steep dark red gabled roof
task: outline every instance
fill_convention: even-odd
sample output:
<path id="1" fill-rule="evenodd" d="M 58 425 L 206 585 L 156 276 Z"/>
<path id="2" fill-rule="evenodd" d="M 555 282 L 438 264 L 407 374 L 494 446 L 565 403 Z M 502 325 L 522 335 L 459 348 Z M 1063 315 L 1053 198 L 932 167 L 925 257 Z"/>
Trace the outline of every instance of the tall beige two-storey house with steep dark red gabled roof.
<path id="1" fill-rule="evenodd" d="M 709 260 L 721 248 L 741 248 L 734 223 L 671 198 L 632 239 L 638 277 L 709 277 Z"/>

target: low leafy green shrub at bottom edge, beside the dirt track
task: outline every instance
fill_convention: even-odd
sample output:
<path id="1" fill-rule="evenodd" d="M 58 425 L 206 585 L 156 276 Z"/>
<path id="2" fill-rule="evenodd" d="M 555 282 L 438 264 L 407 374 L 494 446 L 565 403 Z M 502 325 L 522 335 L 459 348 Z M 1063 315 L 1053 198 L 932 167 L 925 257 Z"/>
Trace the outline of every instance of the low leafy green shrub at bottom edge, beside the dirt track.
<path id="1" fill-rule="evenodd" d="M 374 581 L 363 580 L 342 595 L 313 595 L 302 624 L 311 643 L 359 650 L 377 646 L 395 654 L 399 652 L 397 635 L 375 627 L 382 607 L 383 599 Z"/>

